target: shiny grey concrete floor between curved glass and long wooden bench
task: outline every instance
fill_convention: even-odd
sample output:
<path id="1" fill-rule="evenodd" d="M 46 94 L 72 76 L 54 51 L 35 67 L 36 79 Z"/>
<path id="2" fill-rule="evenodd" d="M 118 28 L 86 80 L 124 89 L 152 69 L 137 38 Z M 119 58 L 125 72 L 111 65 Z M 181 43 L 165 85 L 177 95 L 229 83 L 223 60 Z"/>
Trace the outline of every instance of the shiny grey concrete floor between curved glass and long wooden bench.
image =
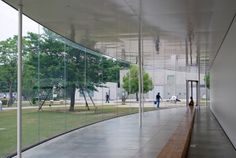
<path id="1" fill-rule="evenodd" d="M 24 158 L 155 158 L 167 143 L 186 108 L 129 115 L 57 137 L 23 153 Z"/>

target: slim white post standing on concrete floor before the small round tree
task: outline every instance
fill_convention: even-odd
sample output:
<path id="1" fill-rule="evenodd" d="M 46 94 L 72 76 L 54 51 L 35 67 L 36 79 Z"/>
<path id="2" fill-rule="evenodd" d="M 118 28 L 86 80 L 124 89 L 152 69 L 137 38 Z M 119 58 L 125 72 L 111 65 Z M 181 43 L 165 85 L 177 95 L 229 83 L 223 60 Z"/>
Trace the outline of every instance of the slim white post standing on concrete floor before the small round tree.
<path id="1" fill-rule="evenodd" d="M 138 64 L 139 64 L 139 127 L 142 127 L 142 0 L 139 0 L 139 19 L 138 19 Z"/>

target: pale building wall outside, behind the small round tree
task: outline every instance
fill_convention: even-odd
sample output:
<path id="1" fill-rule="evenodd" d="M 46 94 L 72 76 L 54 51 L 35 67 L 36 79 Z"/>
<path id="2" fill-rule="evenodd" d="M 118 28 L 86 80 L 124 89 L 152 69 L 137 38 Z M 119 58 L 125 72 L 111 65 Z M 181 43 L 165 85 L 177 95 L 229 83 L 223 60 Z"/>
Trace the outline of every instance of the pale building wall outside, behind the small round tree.
<path id="1" fill-rule="evenodd" d="M 167 99 L 173 95 L 178 96 L 179 99 L 186 98 L 186 80 L 197 80 L 197 72 L 194 70 L 196 68 L 189 68 L 188 72 L 182 71 L 174 71 L 174 70 L 166 70 L 166 69 L 145 69 L 145 71 L 152 78 L 154 89 L 149 91 L 148 94 L 145 95 L 145 99 L 153 100 L 157 92 L 160 92 L 162 98 Z M 123 77 L 126 75 L 128 70 L 120 71 L 120 85 L 123 85 Z M 168 84 L 167 78 L 168 75 L 174 75 L 174 82 L 172 84 Z M 201 84 L 204 84 L 204 75 L 201 75 L 200 78 Z M 194 91 L 195 93 L 195 91 Z M 195 95 L 194 95 L 195 96 Z M 130 96 L 131 98 L 135 98 L 135 96 Z"/>

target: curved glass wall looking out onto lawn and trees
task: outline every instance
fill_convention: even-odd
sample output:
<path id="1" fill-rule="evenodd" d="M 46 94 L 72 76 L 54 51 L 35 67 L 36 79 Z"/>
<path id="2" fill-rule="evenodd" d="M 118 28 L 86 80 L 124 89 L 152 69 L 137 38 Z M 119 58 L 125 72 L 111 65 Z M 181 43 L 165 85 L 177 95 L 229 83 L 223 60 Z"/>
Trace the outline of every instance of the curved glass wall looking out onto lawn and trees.
<path id="1" fill-rule="evenodd" d="M 138 16 L 133 13 L 133 22 L 125 25 L 123 16 L 113 15 L 115 24 L 108 34 L 103 34 L 102 27 L 99 36 L 93 27 L 79 32 L 80 44 L 40 25 L 29 33 L 23 27 L 23 148 L 139 111 Z M 73 28 L 66 37 L 75 38 Z M 5 32 L 0 31 L 0 35 Z M 16 34 L 15 28 L 9 39 L 0 41 L 0 157 L 16 151 Z M 197 76 L 196 63 L 192 68 L 185 65 L 185 41 L 157 34 L 143 25 L 144 111 L 157 110 L 158 92 L 160 109 L 185 106 L 186 80 Z"/>

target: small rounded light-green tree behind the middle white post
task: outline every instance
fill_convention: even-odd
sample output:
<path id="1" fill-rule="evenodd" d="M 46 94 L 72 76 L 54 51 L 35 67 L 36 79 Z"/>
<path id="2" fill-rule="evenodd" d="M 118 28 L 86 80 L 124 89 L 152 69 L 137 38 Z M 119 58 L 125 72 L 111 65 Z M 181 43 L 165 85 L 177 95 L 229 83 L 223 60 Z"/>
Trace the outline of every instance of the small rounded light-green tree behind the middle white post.
<path id="1" fill-rule="evenodd" d="M 138 81 L 138 67 L 132 65 L 129 72 L 123 77 L 123 88 L 129 94 L 136 94 L 138 101 L 139 81 Z M 154 88 L 152 79 L 147 72 L 143 73 L 143 92 L 147 93 Z"/>

